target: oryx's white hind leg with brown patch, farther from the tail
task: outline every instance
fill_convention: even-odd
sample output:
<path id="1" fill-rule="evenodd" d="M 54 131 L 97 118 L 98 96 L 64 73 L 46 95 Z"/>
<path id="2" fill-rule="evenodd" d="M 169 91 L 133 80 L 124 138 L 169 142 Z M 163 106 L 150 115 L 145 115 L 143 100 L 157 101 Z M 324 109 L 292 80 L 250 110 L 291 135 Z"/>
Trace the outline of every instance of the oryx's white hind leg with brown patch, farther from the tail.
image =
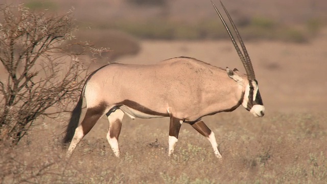
<path id="1" fill-rule="evenodd" d="M 110 114 L 107 113 L 109 121 L 109 130 L 107 133 L 108 143 L 116 157 L 119 157 L 120 151 L 118 146 L 118 138 L 122 129 L 122 120 L 124 118 L 124 112 L 121 109 L 116 109 Z"/>

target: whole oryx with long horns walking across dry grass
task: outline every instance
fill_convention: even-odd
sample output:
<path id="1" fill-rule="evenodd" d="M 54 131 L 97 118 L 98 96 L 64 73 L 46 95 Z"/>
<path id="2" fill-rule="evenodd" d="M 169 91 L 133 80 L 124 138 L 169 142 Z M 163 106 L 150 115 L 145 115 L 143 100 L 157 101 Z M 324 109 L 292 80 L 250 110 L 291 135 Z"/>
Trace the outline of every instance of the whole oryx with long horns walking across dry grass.
<path id="1" fill-rule="evenodd" d="M 241 104 L 255 117 L 264 116 L 265 108 L 258 82 L 241 36 L 221 3 L 243 53 L 217 7 L 212 4 L 244 65 L 246 75 L 236 69 L 230 70 L 227 67 L 223 70 L 189 57 L 171 58 L 151 65 L 105 65 L 88 76 L 72 112 L 64 138 L 64 143 L 72 141 L 68 157 L 104 114 L 109 120 L 107 140 L 117 157 L 120 155 L 118 138 L 124 114 L 132 119 L 170 117 L 169 155 L 174 152 L 181 124 L 190 124 L 207 137 L 219 158 L 221 154 L 215 134 L 201 120 L 202 117 L 233 111 Z M 87 109 L 78 126 L 83 96 Z"/>

